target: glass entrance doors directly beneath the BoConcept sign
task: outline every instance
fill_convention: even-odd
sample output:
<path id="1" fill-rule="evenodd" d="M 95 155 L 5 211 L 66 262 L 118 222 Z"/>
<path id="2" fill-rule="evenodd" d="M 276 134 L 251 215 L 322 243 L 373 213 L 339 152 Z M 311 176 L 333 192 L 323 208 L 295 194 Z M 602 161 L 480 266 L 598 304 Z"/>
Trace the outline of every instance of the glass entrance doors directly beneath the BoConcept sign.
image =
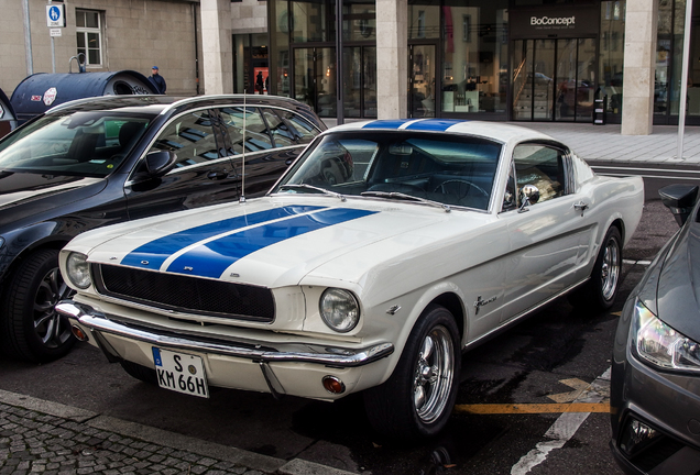
<path id="1" fill-rule="evenodd" d="M 594 38 L 515 40 L 512 51 L 513 120 L 592 121 Z"/>

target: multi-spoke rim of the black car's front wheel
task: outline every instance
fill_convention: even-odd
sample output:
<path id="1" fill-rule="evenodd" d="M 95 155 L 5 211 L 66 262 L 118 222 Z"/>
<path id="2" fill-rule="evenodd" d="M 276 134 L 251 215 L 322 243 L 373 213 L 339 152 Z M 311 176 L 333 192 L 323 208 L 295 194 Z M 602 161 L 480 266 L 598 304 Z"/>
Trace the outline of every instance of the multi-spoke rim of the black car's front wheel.
<path id="1" fill-rule="evenodd" d="M 70 324 L 54 309 L 56 303 L 73 295 L 58 268 L 51 269 L 36 289 L 33 306 L 34 332 L 46 349 L 56 349 L 70 340 Z"/>

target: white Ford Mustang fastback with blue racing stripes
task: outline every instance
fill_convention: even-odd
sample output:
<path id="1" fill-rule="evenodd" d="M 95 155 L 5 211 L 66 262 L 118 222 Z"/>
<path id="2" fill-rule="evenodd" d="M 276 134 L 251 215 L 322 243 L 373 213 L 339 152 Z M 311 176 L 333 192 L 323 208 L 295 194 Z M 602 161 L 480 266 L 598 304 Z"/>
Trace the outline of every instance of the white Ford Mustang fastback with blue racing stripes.
<path id="1" fill-rule="evenodd" d="M 642 205 L 641 178 L 528 129 L 352 123 L 263 198 L 74 239 L 57 310 L 164 388 L 364 391 L 380 432 L 416 439 L 447 422 L 462 351 L 569 291 L 612 305 Z"/>

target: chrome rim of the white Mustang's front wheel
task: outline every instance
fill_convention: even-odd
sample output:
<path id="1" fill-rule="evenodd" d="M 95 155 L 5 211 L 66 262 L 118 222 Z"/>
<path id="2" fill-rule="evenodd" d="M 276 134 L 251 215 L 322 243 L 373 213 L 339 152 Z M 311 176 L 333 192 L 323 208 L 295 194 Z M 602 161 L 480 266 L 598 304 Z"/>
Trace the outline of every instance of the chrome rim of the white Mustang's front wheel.
<path id="1" fill-rule="evenodd" d="M 423 422 L 440 417 L 453 382 L 455 352 L 449 331 L 438 325 L 423 340 L 413 383 L 413 402 Z"/>

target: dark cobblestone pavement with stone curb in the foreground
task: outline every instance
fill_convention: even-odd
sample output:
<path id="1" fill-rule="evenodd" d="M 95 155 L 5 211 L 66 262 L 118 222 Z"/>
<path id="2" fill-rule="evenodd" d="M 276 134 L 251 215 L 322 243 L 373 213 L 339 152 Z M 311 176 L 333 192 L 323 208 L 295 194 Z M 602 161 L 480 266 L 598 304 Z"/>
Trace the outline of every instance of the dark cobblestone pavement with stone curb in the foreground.
<path id="1" fill-rule="evenodd" d="M 30 473 L 350 475 L 0 390 L 0 474 Z"/>

